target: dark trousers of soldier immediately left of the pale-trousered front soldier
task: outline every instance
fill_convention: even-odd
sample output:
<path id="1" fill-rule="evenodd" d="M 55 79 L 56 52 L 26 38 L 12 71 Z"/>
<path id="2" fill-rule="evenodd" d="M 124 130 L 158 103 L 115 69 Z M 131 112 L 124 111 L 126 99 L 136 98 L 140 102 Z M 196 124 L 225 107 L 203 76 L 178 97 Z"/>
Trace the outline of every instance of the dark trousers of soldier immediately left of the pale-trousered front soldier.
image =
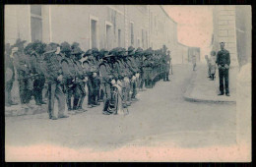
<path id="1" fill-rule="evenodd" d="M 42 102 L 42 89 L 44 87 L 45 78 L 44 76 L 39 76 L 33 82 L 33 96 L 37 104 Z"/>

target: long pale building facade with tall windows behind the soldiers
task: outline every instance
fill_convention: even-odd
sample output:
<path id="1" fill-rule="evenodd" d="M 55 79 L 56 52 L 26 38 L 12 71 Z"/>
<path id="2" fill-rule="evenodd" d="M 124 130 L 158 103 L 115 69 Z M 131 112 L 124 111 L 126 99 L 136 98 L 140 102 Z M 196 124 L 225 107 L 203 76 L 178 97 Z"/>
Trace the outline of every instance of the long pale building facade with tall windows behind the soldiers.
<path id="1" fill-rule="evenodd" d="M 99 12 L 100 11 L 100 12 Z M 5 42 L 79 42 L 82 49 L 142 47 L 172 53 L 177 24 L 158 5 L 6 5 Z"/>

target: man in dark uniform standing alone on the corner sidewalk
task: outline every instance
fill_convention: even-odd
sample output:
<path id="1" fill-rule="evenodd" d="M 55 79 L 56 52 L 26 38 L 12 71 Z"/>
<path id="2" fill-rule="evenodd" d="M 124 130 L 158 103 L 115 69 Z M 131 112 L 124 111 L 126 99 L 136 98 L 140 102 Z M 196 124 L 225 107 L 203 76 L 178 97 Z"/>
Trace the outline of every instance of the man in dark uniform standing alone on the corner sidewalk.
<path id="1" fill-rule="evenodd" d="M 217 54 L 217 65 L 219 68 L 219 77 L 220 77 L 220 94 L 229 96 L 229 89 L 228 89 L 228 69 L 230 65 L 230 55 L 227 50 L 224 49 L 224 42 L 220 43 L 221 49 Z"/>

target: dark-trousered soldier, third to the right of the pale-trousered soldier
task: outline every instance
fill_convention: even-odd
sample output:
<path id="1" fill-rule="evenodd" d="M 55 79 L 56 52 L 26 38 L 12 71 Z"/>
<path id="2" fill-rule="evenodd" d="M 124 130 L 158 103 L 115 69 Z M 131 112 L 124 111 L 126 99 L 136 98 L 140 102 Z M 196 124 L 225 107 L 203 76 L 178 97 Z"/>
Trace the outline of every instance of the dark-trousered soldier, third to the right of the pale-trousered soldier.
<path id="1" fill-rule="evenodd" d="M 87 60 L 83 62 L 84 72 L 88 76 L 88 107 L 93 108 L 99 103 L 96 102 L 96 87 L 95 79 L 98 68 L 96 66 L 96 60 L 94 58 L 93 50 L 89 49 L 84 57 L 87 57 Z"/>

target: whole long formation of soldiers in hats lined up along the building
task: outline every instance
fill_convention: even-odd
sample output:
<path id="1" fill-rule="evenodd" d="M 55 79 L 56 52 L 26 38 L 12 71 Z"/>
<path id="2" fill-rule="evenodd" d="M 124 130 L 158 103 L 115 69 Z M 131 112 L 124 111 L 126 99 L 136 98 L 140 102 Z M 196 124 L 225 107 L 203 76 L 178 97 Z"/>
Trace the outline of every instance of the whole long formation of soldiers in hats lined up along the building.
<path id="1" fill-rule="evenodd" d="M 15 66 L 23 107 L 31 107 L 32 96 L 36 105 L 45 104 L 42 89 L 47 83 L 48 114 L 52 120 L 69 117 L 65 108 L 70 114 L 86 111 L 82 107 L 86 85 L 88 107 L 103 102 L 102 112 L 109 115 L 125 114 L 124 109 L 138 100 L 138 90 L 146 90 L 144 86 L 150 88 L 160 80 L 169 81 L 170 52 L 165 45 L 155 51 L 130 46 L 128 50 L 93 48 L 84 52 L 77 42 L 59 45 L 34 41 L 26 47 L 25 42 L 18 39 L 13 46 L 7 44 L 5 48 L 6 105 L 17 104 L 11 97 Z M 54 111 L 55 99 L 58 112 Z"/>

